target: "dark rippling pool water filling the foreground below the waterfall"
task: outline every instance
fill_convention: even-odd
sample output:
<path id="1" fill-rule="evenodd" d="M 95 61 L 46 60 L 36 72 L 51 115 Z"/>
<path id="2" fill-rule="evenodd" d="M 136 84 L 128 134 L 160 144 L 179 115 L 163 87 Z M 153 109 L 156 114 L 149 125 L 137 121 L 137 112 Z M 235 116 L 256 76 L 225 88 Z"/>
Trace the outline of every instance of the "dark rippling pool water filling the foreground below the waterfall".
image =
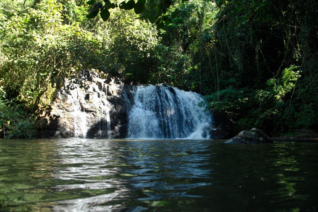
<path id="1" fill-rule="evenodd" d="M 0 140 L 0 211 L 316 211 L 318 144 Z"/>

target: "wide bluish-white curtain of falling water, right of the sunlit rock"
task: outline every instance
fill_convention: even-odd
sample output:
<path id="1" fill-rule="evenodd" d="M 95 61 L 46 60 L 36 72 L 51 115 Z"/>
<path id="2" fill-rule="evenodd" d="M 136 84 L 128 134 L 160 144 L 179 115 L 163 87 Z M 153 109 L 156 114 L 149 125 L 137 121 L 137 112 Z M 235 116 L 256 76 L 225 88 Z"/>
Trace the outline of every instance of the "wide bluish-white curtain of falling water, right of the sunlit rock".
<path id="1" fill-rule="evenodd" d="M 211 113 L 198 107 L 202 100 L 200 94 L 173 87 L 135 87 L 128 138 L 210 138 Z"/>

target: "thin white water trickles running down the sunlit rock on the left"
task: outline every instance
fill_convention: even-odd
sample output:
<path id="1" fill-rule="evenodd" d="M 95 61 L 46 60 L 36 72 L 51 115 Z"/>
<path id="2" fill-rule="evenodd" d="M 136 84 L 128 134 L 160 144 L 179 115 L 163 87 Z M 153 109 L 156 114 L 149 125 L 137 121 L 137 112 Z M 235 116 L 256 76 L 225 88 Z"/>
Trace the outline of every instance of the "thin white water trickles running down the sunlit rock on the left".
<path id="1" fill-rule="evenodd" d="M 66 82 L 69 90 L 68 101 L 72 105 L 73 130 L 75 138 L 86 138 L 93 128 L 94 136 L 111 138 L 110 104 L 107 101 L 107 84 L 104 80 L 94 78 L 96 83 L 85 86 L 84 80 Z M 102 85 L 99 87 L 99 85 Z M 90 112 L 90 113 L 89 113 Z M 96 123 L 92 122 L 96 117 Z"/>

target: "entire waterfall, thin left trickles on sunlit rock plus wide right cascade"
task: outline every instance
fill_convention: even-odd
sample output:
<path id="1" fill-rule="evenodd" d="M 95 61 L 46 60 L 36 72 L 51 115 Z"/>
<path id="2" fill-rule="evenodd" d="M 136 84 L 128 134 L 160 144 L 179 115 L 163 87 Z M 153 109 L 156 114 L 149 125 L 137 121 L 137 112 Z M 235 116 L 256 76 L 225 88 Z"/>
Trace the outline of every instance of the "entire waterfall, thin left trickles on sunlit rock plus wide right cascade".
<path id="1" fill-rule="evenodd" d="M 117 84 L 116 84 L 117 83 Z M 133 86 L 94 72 L 65 79 L 46 120 L 56 137 L 128 139 L 209 139 L 211 112 L 200 94 L 178 88 Z M 55 135 L 54 134 L 54 135 Z"/>

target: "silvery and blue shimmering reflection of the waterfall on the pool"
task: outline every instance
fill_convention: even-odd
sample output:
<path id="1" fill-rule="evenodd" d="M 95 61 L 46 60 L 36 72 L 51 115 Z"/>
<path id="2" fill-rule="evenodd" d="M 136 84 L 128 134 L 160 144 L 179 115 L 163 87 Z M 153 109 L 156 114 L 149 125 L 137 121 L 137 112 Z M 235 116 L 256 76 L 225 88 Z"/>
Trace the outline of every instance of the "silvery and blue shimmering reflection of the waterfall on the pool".
<path id="1" fill-rule="evenodd" d="M 162 148 L 162 145 L 166 148 Z M 135 192 L 142 193 L 142 197 L 137 198 L 140 201 L 168 197 L 202 197 L 189 195 L 186 190 L 211 184 L 193 180 L 206 178 L 210 174 L 211 170 L 207 169 L 210 162 L 206 155 L 200 154 L 200 151 L 206 150 L 207 144 L 193 148 L 190 143 L 183 142 L 180 145 L 180 141 L 76 139 L 60 140 L 57 146 L 59 148 L 56 155 L 59 156 L 59 161 L 53 177 L 63 180 L 63 184 L 52 188 L 96 195 L 80 200 L 54 202 L 58 204 L 54 210 L 58 211 L 87 211 L 87 208 L 93 206 L 94 210 L 114 209 L 107 203 L 114 199 L 118 201 L 133 197 Z M 196 151 L 195 154 L 193 150 Z M 191 161 L 184 160 L 182 156 L 190 156 L 188 153 L 180 154 L 184 151 L 193 153 Z M 99 191 L 98 194 L 96 190 Z M 164 193 L 158 194 L 159 190 Z M 180 190 L 184 191 L 179 192 Z M 104 206 L 100 206 L 102 204 Z M 99 206 L 98 209 L 96 205 Z"/>

